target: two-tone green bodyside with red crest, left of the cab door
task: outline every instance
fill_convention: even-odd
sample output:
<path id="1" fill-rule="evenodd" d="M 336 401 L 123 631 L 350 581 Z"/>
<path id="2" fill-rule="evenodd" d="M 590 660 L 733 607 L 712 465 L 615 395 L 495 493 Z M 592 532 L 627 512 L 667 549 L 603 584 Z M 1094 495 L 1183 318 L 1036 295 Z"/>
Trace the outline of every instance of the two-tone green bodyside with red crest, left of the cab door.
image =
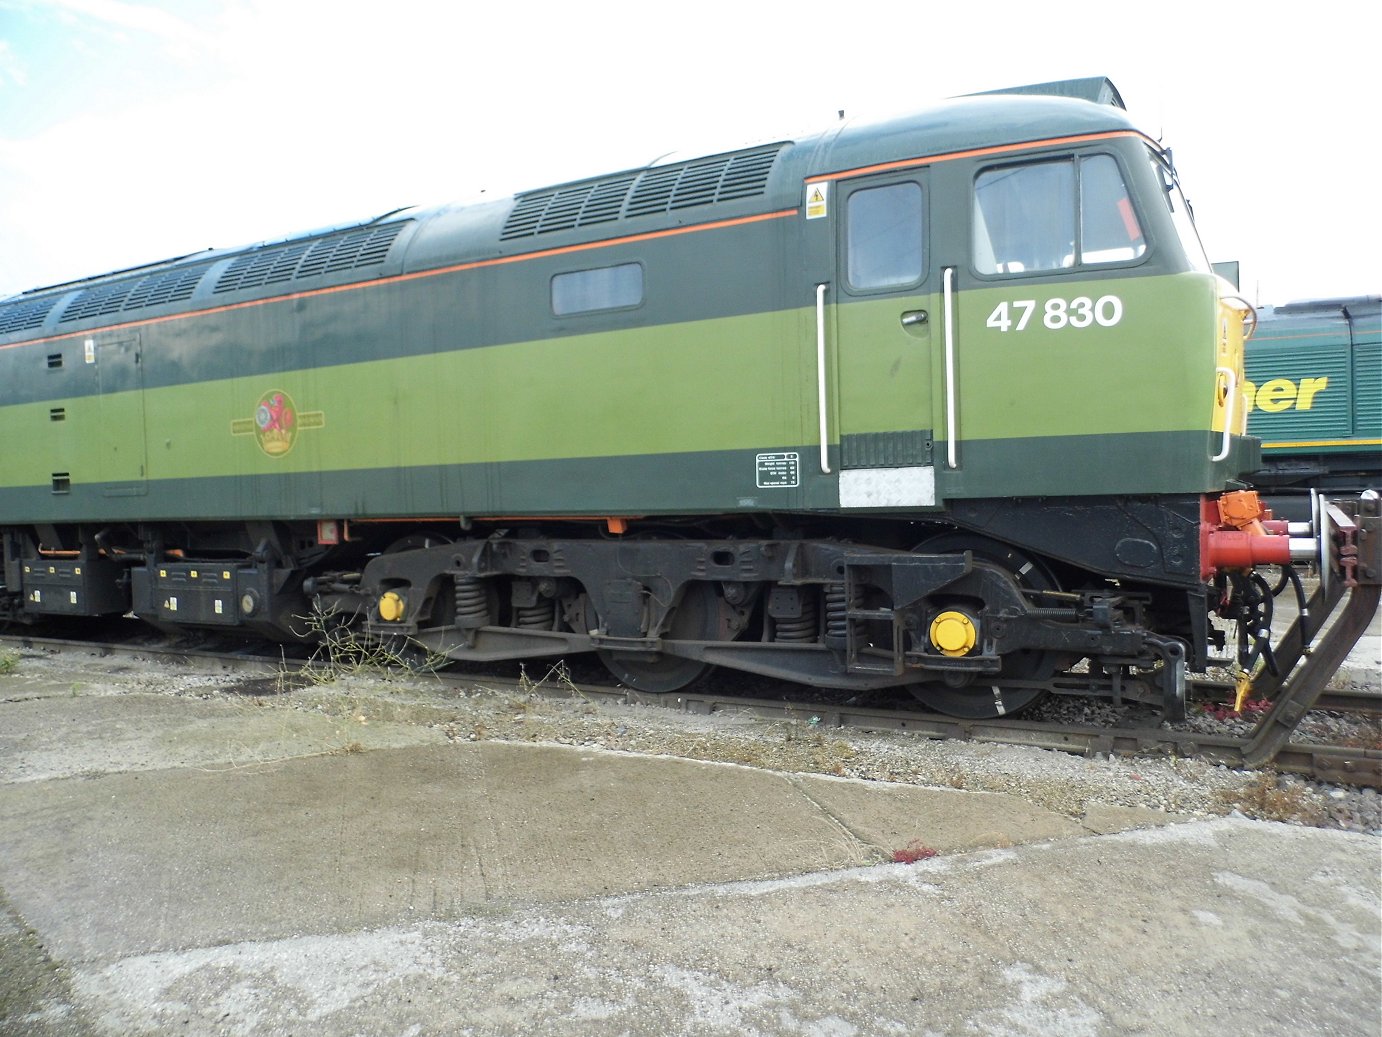
<path id="1" fill-rule="evenodd" d="M 735 228 L 706 234 L 730 236 L 724 246 L 741 257 L 738 264 L 706 259 L 681 267 L 674 282 L 661 286 L 668 310 L 684 307 L 683 293 L 728 299 L 735 308 L 744 283 L 763 281 L 768 268 L 755 249 L 781 252 L 771 227 L 756 228 L 746 242 L 734 241 Z M 672 270 L 684 252 L 674 243 L 643 242 L 623 254 Z M 37 400 L 0 411 L 6 434 L 40 447 L 6 465 L 7 487 L 43 491 L 29 498 L 39 510 L 7 512 L 19 521 L 196 518 L 220 514 L 231 501 L 235 514 L 252 517 L 475 514 L 513 510 L 520 496 L 531 507 L 528 484 L 538 478 L 551 495 L 536 509 L 545 513 L 598 510 L 616 499 L 661 512 L 732 509 L 745 496 L 737 480 L 719 473 L 688 492 L 665 455 L 744 454 L 744 442 L 753 444 L 741 460 L 752 498 L 759 444 L 781 449 L 803 438 L 810 393 L 800 383 L 793 344 L 808 333 L 807 315 L 779 310 L 640 326 L 647 314 L 629 311 L 596 322 L 575 318 L 553 333 L 546 328 L 553 324 L 546 315 L 547 279 L 562 265 L 569 260 L 538 257 L 146 325 L 138 329 L 145 358 L 138 391 L 102 394 L 97 377 L 115 362 L 108 342 L 127 340 L 130 329 L 86 336 L 93 340 L 91 364 L 82 362 L 79 339 L 11 348 L 0 355 L 21 372 L 32 375 L 54 351 L 64 354 L 64 366 L 33 375 L 29 390 Z M 735 289 L 716 293 L 721 279 L 734 281 Z M 511 329 L 492 314 L 468 321 L 467 301 L 486 292 L 527 292 L 546 337 L 503 342 Z M 645 306 L 658 304 L 650 292 Z M 224 347 L 228 342 L 242 346 L 232 353 Z M 362 343 L 369 342 L 384 355 L 332 362 L 365 353 Z M 213 376 L 198 377 L 198 366 Z M 61 437 L 50 436 L 44 379 L 62 379 L 68 390 L 65 420 L 53 426 Z M 735 420 L 708 418 L 712 386 L 719 386 L 716 407 Z M 276 394 L 296 420 L 282 442 L 256 424 L 260 405 L 272 405 Z M 106 426 L 112 401 L 138 405 L 144 416 Z M 113 502 L 98 444 L 135 424 L 149 444 L 146 495 Z M 618 485 L 626 466 L 607 466 L 597 480 L 582 474 L 553 483 L 547 465 L 621 455 L 656 460 L 652 477 L 634 483 L 641 487 L 636 502 L 625 501 L 629 494 Z M 546 474 L 527 474 L 533 465 Z M 59 469 L 70 485 L 44 501 Z M 330 494 L 322 489 L 321 473 L 362 469 L 394 474 L 383 481 L 340 480 Z M 192 480 L 203 488 L 188 494 Z M 569 494 L 562 485 L 568 481 Z M 779 489 L 771 501 L 775 507 L 802 503 L 799 487 Z"/>

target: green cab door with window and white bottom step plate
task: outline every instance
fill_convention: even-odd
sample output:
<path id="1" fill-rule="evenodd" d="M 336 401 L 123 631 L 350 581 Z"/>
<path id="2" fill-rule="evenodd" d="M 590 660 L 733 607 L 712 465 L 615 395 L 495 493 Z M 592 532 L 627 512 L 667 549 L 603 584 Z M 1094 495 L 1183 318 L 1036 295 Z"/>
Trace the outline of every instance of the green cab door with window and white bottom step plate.
<path id="1" fill-rule="evenodd" d="M 835 339 L 842 507 L 936 505 L 927 170 L 837 184 Z"/>

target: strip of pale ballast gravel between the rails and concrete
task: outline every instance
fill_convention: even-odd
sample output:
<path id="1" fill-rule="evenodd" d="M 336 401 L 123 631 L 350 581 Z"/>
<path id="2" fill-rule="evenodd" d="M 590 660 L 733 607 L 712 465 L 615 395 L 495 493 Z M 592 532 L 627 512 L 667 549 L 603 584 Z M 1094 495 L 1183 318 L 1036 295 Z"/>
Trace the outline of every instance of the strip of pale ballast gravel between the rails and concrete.
<path id="1" fill-rule="evenodd" d="M 72 668 L 73 661 L 23 651 L 21 671 Z M 321 683 L 198 673 L 187 668 L 95 660 L 83 665 L 80 694 L 167 694 L 229 700 L 253 711 L 310 712 L 336 720 L 339 752 L 365 751 L 370 729 L 417 725 L 452 741 L 576 745 L 658 756 L 741 763 L 786 773 L 820 773 L 912 785 L 1007 792 L 1079 819 L 1099 805 L 1190 817 L 1241 814 L 1260 820 L 1382 837 L 1382 796 L 1371 788 L 1329 785 L 1271 770 L 1240 772 L 1168 756 L 1085 758 L 1053 749 L 931 740 L 907 733 L 828 729 L 803 712 L 788 720 L 748 713 L 694 715 L 677 709 L 583 697 L 564 666 L 531 672 L 517 687 L 478 678 L 457 686 L 427 675 L 343 673 Z M 76 679 L 75 679 L 76 680 Z M 1086 700 L 1053 700 L 1034 719 L 1082 726 L 1155 723 L 1140 707 L 1115 709 Z M 1244 720 L 1205 713 L 1189 725 L 1202 733 L 1241 734 Z M 1378 718 L 1312 713 L 1296 736 L 1382 747 Z"/>

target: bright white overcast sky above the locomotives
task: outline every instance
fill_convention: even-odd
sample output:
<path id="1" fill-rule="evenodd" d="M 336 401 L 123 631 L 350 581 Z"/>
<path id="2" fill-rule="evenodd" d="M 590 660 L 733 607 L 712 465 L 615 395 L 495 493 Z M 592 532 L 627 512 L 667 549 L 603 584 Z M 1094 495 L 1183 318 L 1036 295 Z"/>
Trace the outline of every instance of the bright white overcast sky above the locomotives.
<path id="1" fill-rule="evenodd" d="M 0 297 L 1100 75 L 1249 299 L 1382 293 L 1379 8 L 0 0 Z"/>

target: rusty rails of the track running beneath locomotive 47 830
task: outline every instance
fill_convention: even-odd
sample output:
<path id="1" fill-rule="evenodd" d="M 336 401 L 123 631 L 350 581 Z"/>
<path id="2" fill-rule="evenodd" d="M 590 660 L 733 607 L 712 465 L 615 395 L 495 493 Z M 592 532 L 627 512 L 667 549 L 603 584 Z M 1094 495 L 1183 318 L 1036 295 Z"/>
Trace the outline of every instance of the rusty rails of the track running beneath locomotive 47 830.
<path id="1" fill-rule="evenodd" d="M 102 658 L 144 658 L 162 661 L 170 666 L 218 668 L 227 673 L 282 673 L 285 668 L 308 665 L 307 660 L 286 658 L 276 651 L 267 653 L 263 646 L 227 651 L 224 648 L 193 648 L 185 644 L 130 644 L 59 637 L 0 636 L 0 648 L 6 647 L 46 653 L 83 653 Z M 547 695 L 580 694 L 591 701 L 640 702 L 702 715 L 735 712 L 771 720 L 799 720 L 807 716 L 811 718 L 813 726 L 818 730 L 901 731 L 923 738 L 955 738 L 1057 749 L 1086 756 L 1198 758 L 1237 769 L 1270 767 L 1302 774 L 1316 781 L 1382 788 L 1382 748 L 1285 741 L 1269 759 L 1260 759 L 1260 752 L 1255 756 L 1260 723 L 1259 729 L 1253 729 L 1248 736 L 1237 737 L 1182 730 L 1161 725 L 1154 716 L 1142 718 L 1129 726 L 1074 726 L 1021 718 L 955 719 L 920 712 L 915 707 L 855 707 L 800 698 L 727 694 L 716 690 L 648 694 L 593 680 L 562 682 L 550 686 L 539 682 L 535 686 L 532 682 L 520 682 L 500 673 L 475 672 L 475 669 L 463 673 L 439 671 L 431 679 L 456 687 L 484 684 L 486 687 L 525 689 Z M 792 690 L 796 691 L 795 687 Z M 1191 698 L 1201 702 L 1223 702 L 1231 698 L 1231 687 L 1222 682 L 1193 682 Z M 1375 691 L 1328 691 L 1321 694 L 1316 709 L 1378 716 L 1382 715 L 1382 694 Z"/>

